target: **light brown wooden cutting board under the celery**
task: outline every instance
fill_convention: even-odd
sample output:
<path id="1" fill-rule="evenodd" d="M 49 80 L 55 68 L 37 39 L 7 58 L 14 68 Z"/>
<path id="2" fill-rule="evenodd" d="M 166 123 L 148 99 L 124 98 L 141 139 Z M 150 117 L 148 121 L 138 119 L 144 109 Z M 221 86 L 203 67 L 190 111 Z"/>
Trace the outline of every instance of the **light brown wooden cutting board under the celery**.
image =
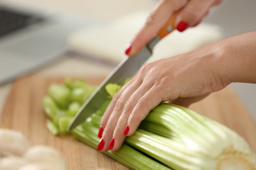
<path id="1" fill-rule="evenodd" d="M 102 77 L 85 77 L 90 84 L 100 84 Z M 31 145 L 50 145 L 63 153 L 68 169 L 127 169 L 113 159 L 82 144 L 71 136 L 55 137 L 46 128 L 42 98 L 49 84 L 63 82 L 63 77 L 23 77 L 14 82 L 0 118 L 0 128 L 18 130 Z M 211 94 L 191 106 L 238 132 L 256 152 L 256 127 L 238 96 L 229 87 Z"/>

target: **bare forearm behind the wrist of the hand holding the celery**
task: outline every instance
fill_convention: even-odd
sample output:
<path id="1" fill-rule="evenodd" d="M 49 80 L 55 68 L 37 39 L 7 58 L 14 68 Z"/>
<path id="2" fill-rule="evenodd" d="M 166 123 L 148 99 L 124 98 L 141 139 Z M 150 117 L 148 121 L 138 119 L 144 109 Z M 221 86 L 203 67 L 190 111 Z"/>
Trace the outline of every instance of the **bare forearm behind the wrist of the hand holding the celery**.
<path id="1" fill-rule="evenodd" d="M 256 31 L 218 43 L 220 53 L 215 67 L 225 81 L 256 83 Z"/>

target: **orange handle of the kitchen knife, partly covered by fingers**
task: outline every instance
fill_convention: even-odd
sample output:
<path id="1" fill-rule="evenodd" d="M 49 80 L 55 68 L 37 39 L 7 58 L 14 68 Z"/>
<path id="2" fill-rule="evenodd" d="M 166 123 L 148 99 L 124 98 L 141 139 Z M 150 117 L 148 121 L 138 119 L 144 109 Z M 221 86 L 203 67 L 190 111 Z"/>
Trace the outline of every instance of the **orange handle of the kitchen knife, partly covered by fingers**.
<path id="1" fill-rule="evenodd" d="M 178 14 L 180 10 L 176 11 L 173 13 L 173 15 L 171 16 L 171 18 L 169 19 L 169 21 L 166 22 L 166 24 L 164 25 L 164 27 L 162 27 L 159 32 L 157 33 L 157 35 L 159 35 L 159 38 L 164 38 L 166 35 L 168 35 L 169 33 L 171 33 L 173 30 L 175 30 L 175 21 L 176 21 L 176 16 Z"/>

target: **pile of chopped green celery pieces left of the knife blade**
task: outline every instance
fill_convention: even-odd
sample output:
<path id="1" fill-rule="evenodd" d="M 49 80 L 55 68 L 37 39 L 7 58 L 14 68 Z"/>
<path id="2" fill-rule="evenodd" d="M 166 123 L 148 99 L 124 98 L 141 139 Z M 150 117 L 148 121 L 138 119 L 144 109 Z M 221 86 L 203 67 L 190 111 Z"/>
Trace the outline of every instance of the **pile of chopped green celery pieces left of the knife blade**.
<path id="1" fill-rule="evenodd" d="M 68 134 L 70 121 L 94 90 L 95 86 L 82 79 L 68 78 L 63 84 L 51 84 L 48 96 L 43 98 L 43 108 L 50 119 L 46 123 L 48 130 L 53 135 Z"/>

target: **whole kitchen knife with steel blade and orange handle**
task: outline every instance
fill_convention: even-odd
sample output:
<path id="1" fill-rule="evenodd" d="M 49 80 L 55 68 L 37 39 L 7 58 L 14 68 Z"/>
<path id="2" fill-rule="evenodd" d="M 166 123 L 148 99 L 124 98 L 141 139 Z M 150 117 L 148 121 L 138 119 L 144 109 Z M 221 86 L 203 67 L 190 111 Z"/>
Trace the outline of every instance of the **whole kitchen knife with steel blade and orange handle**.
<path id="1" fill-rule="evenodd" d="M 102 82 L 102 84 L 100 84 L 92 96 L 85 101 L 82 108 L 80 108 L 80 111 L 78 111 L 71 121 L 68 130 L 72 130 L 77 125 L 84 122 L 86 118 L 90 117 L 92 113 L 95 113 L 95 111 L 102 106 L 102 103 L 104 103 L 107 96 L 109 96 L 105 89 L 107 84 L 122 84 L 124 79 L 132 77 L 139 70 L 139 68 L 142 67 L 144 62 L 146 62 L 146 60 L 152 55 L 152 50 L 154 45 L 156 45 L 156 42 L 159 42 L 161 38 L 164 38 L 174 30 L 177 13 L 178 11 L 171 16 L 164 27 L 159 30 L 156 37 L 146 44 L 146 46 L 139 51 L 137 55 L 126 57 L 117 65 L 113 72 Z"/>

